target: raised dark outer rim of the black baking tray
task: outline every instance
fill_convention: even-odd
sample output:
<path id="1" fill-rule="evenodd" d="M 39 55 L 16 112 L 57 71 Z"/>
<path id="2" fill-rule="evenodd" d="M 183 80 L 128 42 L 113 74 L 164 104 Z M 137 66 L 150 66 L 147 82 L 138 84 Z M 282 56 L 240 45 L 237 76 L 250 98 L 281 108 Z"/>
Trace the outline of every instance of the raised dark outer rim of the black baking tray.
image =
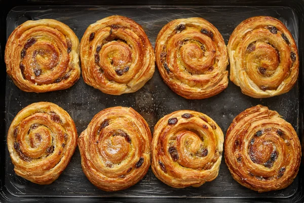
<path id="1" fill-rule="evenodd" d="M 65 0 L 65 1 L 54 1 L 54 3 L 52 4 L 52 6 L 81 6 L 81 7 L 94 7 L 94 6 L 106 6 L 106 7 L 132 7 L 132 6 L 136 6 L 136 7 L 174 7 L 174 6 L 185 6 L 185 7 L 189 7 L 189 6 L 212 6 L 212 7 L 217 7 L 217 6 L 221 6 L 221 7 L 231 7 L 231 6 L 240 6 L 240 7 L 246 7 L 246 6 L 255 6 L 255 7 L 268 7 L 268 6 L 272 6 L 272 7 L 287 7 L 292 9 L 299 18 L 299 32 L 301 33 L 301 31 L 304 31 L 304 0 L 292 0 L 289 1 L 290 5 L 285 5 L 284 3 L 286 2 L 276 2 L 276 0 L 271 0 L 268 2 L 263 2 L 261 0 L 255 1 L 255 2 L 250 2 L 247 3 L 246 0 L 241 0 L 238 3 L 234 2 L 231 5 L 227 5 L 229 3 L 231 3 L 231 0 L 221 0 L 221 1 L 204 1 L 204 2 L 200 2 L 199 0 L 195 0 L 192 3 L 189 3 L 188 5 L 186 5 L 188 2 L 183 1 L 183 0 L 178 0 L 178 1 L 161 1 L 161 0 L 154 0 L 151 2 L 155 2 L 155 5 L 153 4 L 142 4 L 142 2 L 140 2 L 138 4 L 138 2 L 136 0 L 131 0 L 131 1 L 127 1 L 127 0 L 122 0 L 122 2 L 124 3 L 123 6 L 120 5 L 113 5 L 113 3 L 109 0 L 105 0 L 103 1 L 100 5 L 101 2 L 93 0 L 91 1 L 92 5 L 82 5 L 84 4 L 84 2 L 82 2 L 81 0 L 75 0 L 71 3 L 71 1 Z M 150 2 L 149 2 L 150 3 Z M 174 5 L 173 5 L 174 3 Z M 11 12 L 11 10 L 13 10 L 16 7 L 19 6 L 50 6 L 50 1 L 48 0 L 43 0 L 43 1 L 34 1 L 34 0 L 23 0 L 23 1 L 18 1 L 18 2 L 10 2 L 8 3 L 8 1 L 2 1 L 0 0 L 0 13 L 2 15 L 1 20 L 0 20 L 0 63 L 3 67 L 5 67 L 5 63 L 4 63 L 4 49 L 5 49 L 5 45 L 6 45 L 6 20 L 8 17 L 8 14 Z M 265 4 L 265 5 L 260 5 L 260 4 Z M 302 62 L 304 61 L 304 35 L 299 34 L 298 36 L 298 52 L 299 52 L 299 58 L 300 58 L 300 64 L 302 64 Z M 304 122 L 303 122 L 303 103 L 304 103 L 304 91 L 303 91 L 303 85 L 304 85 L 304 70 L 303 70 L 304 65 L 300 65 L 300 71 L 299 71 L 299 78 L 298 78 L 298 85 L 299 85 L 299 89 L 298 89 L 298 93 L 299 93 L 299 131 L 298 131 L 298 136 L 302 145 L 302 154 L 304 151 Z M 0 77 L 0 84 L 3 84 L 3 86 L 5 87 L 6 84 L 6 71 L 5 69 L 0 69 L 0 71 L 2 71 L 2 76 Z M 0 107 L 2 107 L 2 109 L 0 109 L 0 130 L 2 131 L 3 134 L 3 142 L 0 143 L 0 202 L 18 202 L 20 200 L 23 201 L 28 201 L 28 202 L 33 202 L 33 201 L 56 201 L 56 200 L 60 200 L 61 198 L 64 198 L 64 201 L 67 202 L 72 202 L 72 201 L 79 201 L 81 199 L 82 202 L 87 202 L 87 201 L 97 201 L 99 198 L 98 197 L 67 197 L 67 196 L 62 196 L 62 197 L 20 197 L 18 195 L 14 195 L 12 194 L 10 191 L 7 190 L 7 188 L 5 187 L 5 183 L 4 183 L 4 177 L 5 177 L 5 156 L 2 156 L 3 154 L 5 154 L 5 149 L 6 149 L 6 141 L 5 141 L 5 95 L 6 95 L 6 89 L 5 88 L 0 88 L 0 95 L 1 98 L 0 99 Z M 216 201 L 216 202 L 226 202 L 226 201 L 236 201 L 236 202 L 243 202 L 243 201 L 248 201 L 248 200 L 255 200 L 255 201 L 259 201 L 259 202 L 269 202 L 269 201 L 276 201 L 276 202 L 301 202 L 304 201 L 304 187 L 303 187 L 303 182 L 304 182 L 304 157 L 302 156 L 302 160 L 301 160 L 301 166 L 300 166 L 300 170 L 298 173 L 299 176 L 299 187 L 297 189 L 297 191 L 288 197 L 277 197 L 277 198 L 267 198 L 265 199 L 263 198 L 259 198 L 259 197 L 249 197 L 249 198 L 240 198 L 240 197 L 203 197 L 203 198 L 197 198 L 197 197 L 186 197 L 186 198 L 182 198 L 184 201 L 191 201 L 191 202 L 196 202 L 197 201 L 202 201 L 202 200 L 206 200 L 206 201 Z M 14 199 L 15 197 L 17 197 L 16 199 Z M 106 197 L 106 200 L 108 201 L 125 201 L 125 202 L 133 202 L 133 201 L 142 201 L 142 202 L 150 202 L 151 199 L 158 199 L 158 200 L 165 200 L 165 201 L 169 201 L 169 202 L 173 202 L 176 201 L 176 199 L 179 199 L 178 197 L 151 197 L 151 198 L 145 198 L 145 197 Z M 181 199 L 181 198 L 180 198 Z M 62 199 L 61 199 L 62 200 Z"/>

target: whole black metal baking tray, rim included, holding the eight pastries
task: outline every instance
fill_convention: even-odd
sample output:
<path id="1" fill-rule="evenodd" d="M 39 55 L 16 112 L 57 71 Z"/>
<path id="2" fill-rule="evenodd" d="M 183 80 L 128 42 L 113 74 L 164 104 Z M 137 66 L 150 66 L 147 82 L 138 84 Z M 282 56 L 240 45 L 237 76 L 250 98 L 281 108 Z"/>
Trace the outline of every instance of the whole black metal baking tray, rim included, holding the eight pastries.
<path id="1" fill-rule="evenodd" d="M 90 4 L 101 4 L 87 1 Z M 259 201 L 259 202 L 303 202 L 303 170 L 300 170 L 294 182 L 279 191 L 257 193 L 233 180 L 224 158 L 218 177 L 199 188 L 171 188 L 159 181 L 151 170 L 136 185 L 118 192 L 104 192 L 93 186 L 81 168 L 80 153 L 77 149 L 61 176 L 51 185 L 31 183 L 13 171 L 13 164 L 6 146 L 6 135 L 15 115 L 27 105 L 37 101 L 50 101 L 65 109 L 77 126 L 80 134 L 99 111 L 114 107 L 132 107 L 148 122 L 153 131 L 156 122 L 166 114 L 176 110 L 190 109 L 203 112 L 213 118 L 223 132 L 232 120 L 243 110 L 258 104 L 276 110 L 296 129 L 303 146 L 303 14 L 302 1 L 126 1 L 113 5 L 102 2 L 103 6 L 86 6 L 81 1 L 24 1 L 17 3 L 0 2 L 1 21 L 1 151 L 0 151 L 0 201 Z M 141 5 L 140 5 L 141 4 Z M 50 6 L 51 5 L 51 6 Z M 299 82 L 288 93 L 272 98 L 255 99 L 241 93 L 239 87 L 231 81 L 226 90 L 211 98 L 202 100 L 184 99 L 169 89 L 156 70 L 153 78 L 135 93 L 121 96 L 103 94 L 86 85 L 82 79 L 67 90 L 48 93 L 28 93 L 18 89 L 6 76 L 4 49 L 8 36 L 15 27 L 26 20 L 52 18 L 59 20 L 76 33 L 81 40 L 86 28 L 96 20 L 110 15 L 123 15 L 142 25 L 151 44 L 155 46 L 157 34 L 170 20 L 187 17 L 203 17 L 211 22 L 227 44 L 234 28 L 251 16 L 269 15 L 281 20 L 298 43 L 300 57 Z M 229 66 L 227 67 L 229 70 Z M 303 158 L 302 158 L 303 160 Z M 301 165 L 303 169 L 303 161 Z M 179 198 L 179 199 L 177 199 Z"/>

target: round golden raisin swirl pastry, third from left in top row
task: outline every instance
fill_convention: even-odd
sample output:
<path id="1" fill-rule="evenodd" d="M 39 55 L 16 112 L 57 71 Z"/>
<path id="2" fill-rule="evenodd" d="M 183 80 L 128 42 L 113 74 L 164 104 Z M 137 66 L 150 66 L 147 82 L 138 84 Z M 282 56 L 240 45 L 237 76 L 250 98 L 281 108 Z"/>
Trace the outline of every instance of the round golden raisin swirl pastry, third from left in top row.
<path id="1" fill-rule="evenodd" d="M 208 98 L 228 85 L 226 45 L 219 31 L 203 18 L 166 24 L 158 34 L 155 53 L 163 80 L 184 98 Z"/>

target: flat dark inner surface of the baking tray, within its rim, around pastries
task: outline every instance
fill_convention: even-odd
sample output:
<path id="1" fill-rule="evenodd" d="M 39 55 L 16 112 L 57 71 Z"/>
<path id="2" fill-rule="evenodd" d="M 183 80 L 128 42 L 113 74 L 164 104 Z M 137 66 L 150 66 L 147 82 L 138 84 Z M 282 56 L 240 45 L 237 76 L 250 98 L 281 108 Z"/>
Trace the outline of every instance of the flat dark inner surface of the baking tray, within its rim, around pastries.
<path id="1" fill-rule="evenodd" d="M 86 28 L 96 20 L 110 15 L 123 15 L 142 25 L 151 44 L 160 29 L 177 18 L 203 17 L 221 33 L 227 44 L 234 28 L 243 20 L 257 15 L 273 16 L 281 20 L 298 42 L 298 17 L 289 7 L 85 7 L 85 6 L 20 6 L 11 10 L 7 17 L 7 37 L 15 27 L 26 20 L 52 18 L 59 20 L 76 33 L 81 40 Z M 229 69 L 229 66 L 228 66 Z M 66 110 L 77 126 L 80 134 L 99 111 L 114 107 L 132 107 L 148 122 L 153 131 L 156 122 L 173 111 L 189 109 L 207 114 L 221 127 L 224 134 L 232 120 L 243 110 L 258 104 L 277 111 L 299 131 L 299 86 L 288 93 L 272 98 L 255 99 L 241 93 L 239 87 L 229 81 L 226 90 L 211 98 L 187 100 L 169 89 L 156 70 L 153 78 L 135 93 L 113 96 L 86 85 L 81 79 L 67 90 L 48 93 L 27 93 L 18 89 L 7 77 L 5 100 L 6 133 L 16 114 L 27 105 L 38 101 L 53 102 Z M 19 197 L 188 197 L 188 198 L 286 198 L 295 194 L 299 178 L 287 188 L 279 191 L 257 193 L 233 180 L 225 165 L 224 158 L 218 177 L 199 188 L 171 188 L 149 169 L 147 175 L 136 185 L 118 192 L 104 192 L 93 186 L 81 168 L 80 153 L 77 149 L 61 176 L 51 185 L 37 185 L 13 171 L 13 164 L 6 149 L 5 186 L 14 196 Z"/>

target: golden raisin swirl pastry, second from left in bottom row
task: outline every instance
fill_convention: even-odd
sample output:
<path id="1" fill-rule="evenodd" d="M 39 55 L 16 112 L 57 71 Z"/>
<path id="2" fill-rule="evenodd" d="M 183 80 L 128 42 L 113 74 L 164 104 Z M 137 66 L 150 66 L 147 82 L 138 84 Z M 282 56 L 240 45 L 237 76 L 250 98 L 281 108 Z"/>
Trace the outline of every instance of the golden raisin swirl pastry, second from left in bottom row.
<path id="1" fill-rule="evenodd" d="M 83 171 L 101 190 L 126 189 L 147 173 L 150 144 L 148 124 L 135 110 L 104 109 L 94 116 L 78 139 Z"/>

